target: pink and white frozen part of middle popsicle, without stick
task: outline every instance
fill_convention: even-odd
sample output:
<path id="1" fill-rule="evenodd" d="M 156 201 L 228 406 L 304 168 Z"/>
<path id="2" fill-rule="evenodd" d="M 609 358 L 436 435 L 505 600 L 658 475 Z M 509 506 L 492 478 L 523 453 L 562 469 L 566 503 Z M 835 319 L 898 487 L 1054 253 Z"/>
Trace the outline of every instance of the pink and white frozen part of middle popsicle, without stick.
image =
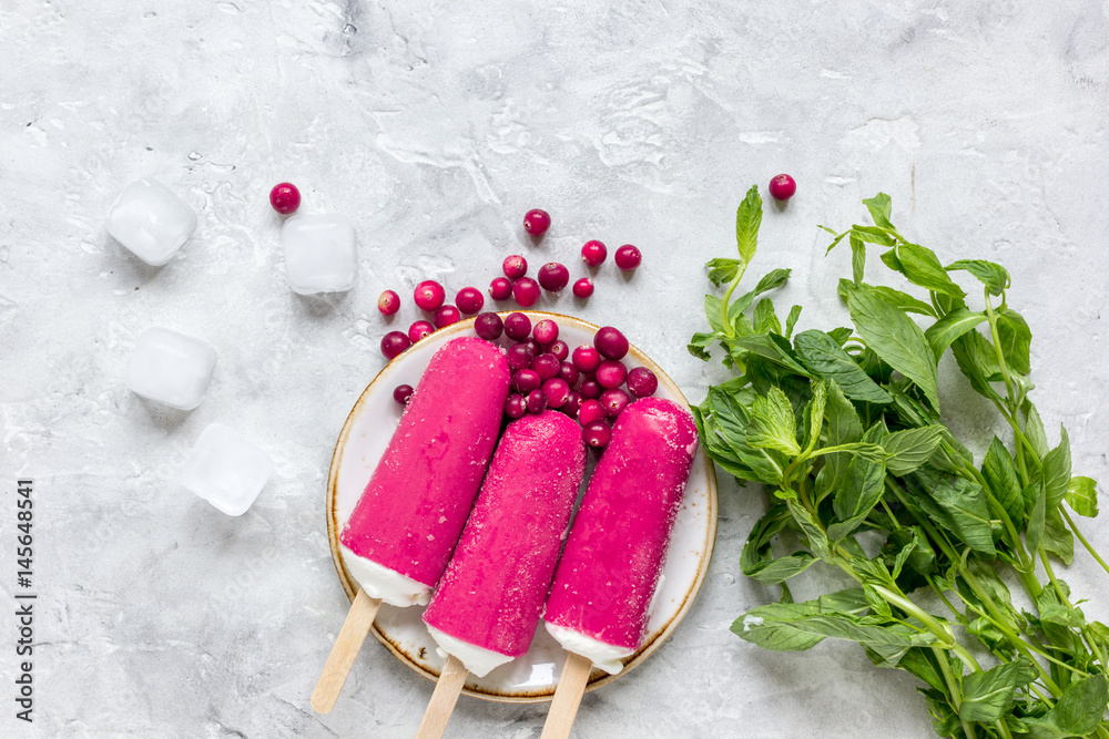
<path id="1" fill-rule="evenodd" d="M 528 650 L 584 469 L 581 429 L 563 413 L 526 415 L 501 437 L 424 612 L 436 642 L 475 675 Z"/>

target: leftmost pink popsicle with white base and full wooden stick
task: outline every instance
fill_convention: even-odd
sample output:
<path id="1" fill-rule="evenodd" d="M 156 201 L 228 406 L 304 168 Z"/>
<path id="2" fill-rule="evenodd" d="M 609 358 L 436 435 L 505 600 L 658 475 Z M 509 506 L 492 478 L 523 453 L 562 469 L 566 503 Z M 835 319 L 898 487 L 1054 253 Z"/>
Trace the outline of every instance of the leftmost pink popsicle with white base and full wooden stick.
<path id="1" fill-rule="evenodd" d="M 317 711 L 334 707 L 381 602 L 427 603 L 485 476 L 508 386 L 505 356 L 484 339 L 431 357 L 339 536 L 360 587 L 313 691 Z"/>

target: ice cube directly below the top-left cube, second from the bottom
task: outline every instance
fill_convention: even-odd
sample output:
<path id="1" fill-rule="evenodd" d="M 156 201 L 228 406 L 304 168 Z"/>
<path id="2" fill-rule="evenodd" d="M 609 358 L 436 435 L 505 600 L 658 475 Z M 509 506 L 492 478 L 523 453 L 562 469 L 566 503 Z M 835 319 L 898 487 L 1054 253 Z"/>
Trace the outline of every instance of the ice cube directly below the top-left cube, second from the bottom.
<path id="1" fill-rule="evenodd" d="M 143 398 L 189 411 L 204 399 L 214 367 L 215 349 L 207 341 L 155 326 L 135 342 L 126 384 Z"/>

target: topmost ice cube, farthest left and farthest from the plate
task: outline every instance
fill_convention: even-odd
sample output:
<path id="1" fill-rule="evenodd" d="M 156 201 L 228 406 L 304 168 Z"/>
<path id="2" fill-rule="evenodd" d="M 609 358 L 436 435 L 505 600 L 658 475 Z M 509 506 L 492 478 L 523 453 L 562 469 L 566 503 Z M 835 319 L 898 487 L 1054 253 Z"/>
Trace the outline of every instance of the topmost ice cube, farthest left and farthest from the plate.
<path id="1" fill-rule="evenodd" d="M 146 264 L 161 267 L 196 228 L 196 214 L 156 179 L 136 179 L 108 213 L 108 233 Z"/>

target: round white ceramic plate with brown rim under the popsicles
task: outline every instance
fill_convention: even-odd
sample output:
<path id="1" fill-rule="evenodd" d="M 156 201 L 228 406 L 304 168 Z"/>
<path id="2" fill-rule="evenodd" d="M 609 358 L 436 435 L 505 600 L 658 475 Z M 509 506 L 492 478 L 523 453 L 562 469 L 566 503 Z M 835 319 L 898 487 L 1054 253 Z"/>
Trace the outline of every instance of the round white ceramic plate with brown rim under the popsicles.
<path id="1" fill-rule="evenodd" d="M 540 311 L 523 311 L 536 322 L 551 318 L 559 325 L 559 338 L 570 348 L 592 343 L 597 326 L 572 318 Z M 501 314 L 507 316 L 508 314 Z M 465 320 L 440 329 L 389 362 L 369 383 L 347 417 L 335 444 L 332 468 L 327 478 L 327 537 L 332 557 L 347 596 L 354 599 L 357 584 L 347 572 L 339 552 L 339 531 L 346 522 L 363 489 L 385 453 L 389 438 L 400 419 L 400 407 L 393 400 L 393 389 L 398 384 L 416 387 L 431 355 L 445 342 L 458 336 L 472 333 L 474 320 Z M 507 346 L 508 341 L 501 339 Z M 645 366 L 659 378 L 661 398 L 688 404 L 681 391 L 667 374 L 643 352 L 631 347 L 624 363 L 629 368 Z M 593 454 L 590 454 L 592 458 Z M 587 469 L 592 468 L 592 459 Z M 703 451 L 693 462 L 685 500 L 674 525 L 670 554 L 667 557 L 661 592 L 648 625 L 648 636 L 642 648 L 624 660 L 619 675 L 593 670 L 589 687 L 593 689 L 642 663 L 665 640 L 689 610 L 709 568 L 712 545 L 716 536 L 716 479 L 712 463 Z M 444 660 L 436 654 L 436 644 L 424 628 L 420 616 L 424 608 L 397 608 L 383 605 L 374 622 L 373 634 L 398 659 L 420 675 L 436 680 Z M 372 651 L 364 649 L 364 651 Z M 370 658 L 378 658 L 370 654 Z M 464 692 L 477 698 L 500 701 L 542 701 L 554 695 L 554 686 L 562 670 L 566 653 L 540 624 L 531 648 L 523 657 L 502 665 L 482 678 L 472 675 Z"/>

